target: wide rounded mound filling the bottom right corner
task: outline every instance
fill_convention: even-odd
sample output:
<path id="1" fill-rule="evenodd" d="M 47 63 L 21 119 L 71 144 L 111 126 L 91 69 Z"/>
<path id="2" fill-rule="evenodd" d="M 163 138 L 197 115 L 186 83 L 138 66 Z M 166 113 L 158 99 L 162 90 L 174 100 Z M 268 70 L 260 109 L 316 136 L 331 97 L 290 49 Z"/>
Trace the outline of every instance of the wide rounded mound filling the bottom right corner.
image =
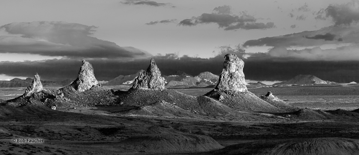
<path id="1" fill-rule="evenodd" d="M 255 141 L 227 146 L 206 154 L 226 155 L 356 155 L 359 140 L 348 138 L 313 138 Z"/>

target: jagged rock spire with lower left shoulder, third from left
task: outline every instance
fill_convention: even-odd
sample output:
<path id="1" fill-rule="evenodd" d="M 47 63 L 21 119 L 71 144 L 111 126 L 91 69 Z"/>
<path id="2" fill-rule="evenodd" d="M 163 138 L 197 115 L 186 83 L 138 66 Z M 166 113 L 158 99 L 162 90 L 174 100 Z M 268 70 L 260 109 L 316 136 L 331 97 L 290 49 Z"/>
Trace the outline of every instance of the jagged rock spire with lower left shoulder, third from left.
<path id="1" fill-rule="evenodd" d="M 135 79 L 132 89 L 136 88 L 164 89 L 164 80 L 161 77 L 161 71 L 159 71 L 154 59 L 151 59 L 147 71 L 140 72 Z"/>

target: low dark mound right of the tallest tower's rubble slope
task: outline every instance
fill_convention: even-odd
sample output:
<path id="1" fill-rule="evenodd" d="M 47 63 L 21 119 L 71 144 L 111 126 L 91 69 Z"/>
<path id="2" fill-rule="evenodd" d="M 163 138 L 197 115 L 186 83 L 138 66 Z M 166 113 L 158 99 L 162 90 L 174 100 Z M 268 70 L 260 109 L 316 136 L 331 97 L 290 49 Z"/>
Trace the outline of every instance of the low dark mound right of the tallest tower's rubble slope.
<path id="1" fill-rule="evenodd" d="M 329 118 L 335 118 L 332 114 L 322 110 L 311 110 L 307 108 L 300 109 L 294 112 L 284 113 L 284 117 L 294 118 L 300 120 L 323 120 Z"/>

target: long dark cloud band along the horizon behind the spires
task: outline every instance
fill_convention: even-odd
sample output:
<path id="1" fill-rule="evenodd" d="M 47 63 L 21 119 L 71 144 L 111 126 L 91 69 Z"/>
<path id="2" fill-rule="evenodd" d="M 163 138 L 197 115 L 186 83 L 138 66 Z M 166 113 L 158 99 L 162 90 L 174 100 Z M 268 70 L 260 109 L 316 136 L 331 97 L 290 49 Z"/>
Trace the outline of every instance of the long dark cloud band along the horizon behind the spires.
<path id="1" fill-rule="evenodd" d="M 152 58 L 155 59 L 158 68 L 164 75 L 169 75 L 178 69 L 194 76 L 205 71 L 220 74 L 223 69 L 224 55 L 234 53 L 244 61 L 243 71 L 246 79 L 284 81 L 298 74 L 313 74 L 323 80 L 335 82 L 359 81 L 358 60 L 307 60 L 288 55 L 274 55 L 274 50 L 276 49 L 272 49 L 270 53 L 252 53 L 250 57 L 244 59 L 245 55 L 248 55 L 244 50 L 223 46 L 220 47 L 218 55 L 212 58 L 196 58 L 187 55 L 178 57 L 177 54 L 156 55 Z M 299 51 L 291 52 L 300 53 Z M 109 80 L 119 75 L 134 74 L 140 69 L 146 69 L 150 59 L 132 61 L 89 59 L 89 62 L 92 64 L 98 80 Z M 81 59 L 0 62 L 0 65 L 1 74 L 32 77 L 37 72 L 44 80 L 61 81 L 67 78 L 76 78 L 81 66 Z"/>

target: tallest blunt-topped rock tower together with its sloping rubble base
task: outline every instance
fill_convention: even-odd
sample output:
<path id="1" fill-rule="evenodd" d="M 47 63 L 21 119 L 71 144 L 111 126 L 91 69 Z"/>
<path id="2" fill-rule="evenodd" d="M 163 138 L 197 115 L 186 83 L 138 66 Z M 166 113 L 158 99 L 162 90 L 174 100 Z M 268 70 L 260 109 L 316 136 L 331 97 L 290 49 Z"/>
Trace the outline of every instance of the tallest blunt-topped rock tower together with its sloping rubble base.
<path id="1" fill-rule="evenodd" d="M 243 73 L 243 60 L 239 59 L 236 54 L 226 54 L 224 59 L 223 70 L 217 86 L 205 96 L 214 98 L 224 105 L 238 110 L 279 110 L 247 90 Z"/>

